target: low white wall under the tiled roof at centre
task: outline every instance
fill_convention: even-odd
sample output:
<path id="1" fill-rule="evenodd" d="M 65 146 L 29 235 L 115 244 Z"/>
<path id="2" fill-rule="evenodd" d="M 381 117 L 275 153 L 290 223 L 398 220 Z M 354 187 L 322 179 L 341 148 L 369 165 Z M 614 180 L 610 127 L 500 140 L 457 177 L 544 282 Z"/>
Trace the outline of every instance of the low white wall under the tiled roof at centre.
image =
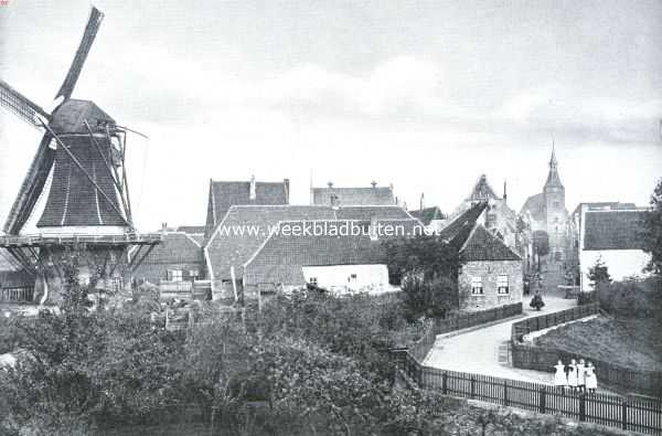
<path id="1" fill-rule="evenodd" d="M 314 277 L 318 286 L 339 294 L 351 291 L 381 294 L 393 290 L 388 285 L 386 265 L 303 266 L 302 269 L 307 283 Z M 355 278 L 352 278 L 353 274 Z"/>

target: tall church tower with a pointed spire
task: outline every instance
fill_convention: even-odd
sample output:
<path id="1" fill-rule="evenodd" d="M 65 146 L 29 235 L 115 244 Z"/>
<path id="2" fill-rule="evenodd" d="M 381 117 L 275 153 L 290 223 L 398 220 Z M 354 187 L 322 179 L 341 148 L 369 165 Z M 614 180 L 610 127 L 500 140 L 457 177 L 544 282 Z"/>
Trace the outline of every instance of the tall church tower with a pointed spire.
<path id="1" fill-rule="evenodd" d="M 554 143 L 549 159 L 549 173 L 543 188 L 545 200 L 545 220 L 549 235 L 549 257 L 554 260 L 565 260 L 567 210 L 565 208 L 565 188 L 558 176 L 558 162 Z"/>

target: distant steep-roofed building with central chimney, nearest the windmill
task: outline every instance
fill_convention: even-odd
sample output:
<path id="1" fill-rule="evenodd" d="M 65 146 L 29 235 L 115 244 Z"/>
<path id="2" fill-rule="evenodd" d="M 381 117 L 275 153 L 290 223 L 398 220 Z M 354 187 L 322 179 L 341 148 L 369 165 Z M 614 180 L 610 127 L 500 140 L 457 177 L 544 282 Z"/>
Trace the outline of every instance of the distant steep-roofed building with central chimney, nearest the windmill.
<path id="1" fill-rule="evenodd" d="M 282 182 L 257 182 L 255 177 L 247 182 L 210 180 L 205 237 L 223 220 L 233 205 L 289 204 L 289 179 Z"/>

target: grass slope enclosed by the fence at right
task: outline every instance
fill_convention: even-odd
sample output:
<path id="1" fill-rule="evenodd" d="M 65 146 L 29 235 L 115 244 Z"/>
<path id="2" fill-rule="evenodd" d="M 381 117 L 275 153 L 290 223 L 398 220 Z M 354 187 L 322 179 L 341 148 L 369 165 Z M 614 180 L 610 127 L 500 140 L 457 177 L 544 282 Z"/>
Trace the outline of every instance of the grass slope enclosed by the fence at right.
<path id="1" fill-rule="evenodd" d="M 660 331 L 662 317 L 598 317 L 551 330 L 535 343 L 632 370 L 662 371 Z"/>

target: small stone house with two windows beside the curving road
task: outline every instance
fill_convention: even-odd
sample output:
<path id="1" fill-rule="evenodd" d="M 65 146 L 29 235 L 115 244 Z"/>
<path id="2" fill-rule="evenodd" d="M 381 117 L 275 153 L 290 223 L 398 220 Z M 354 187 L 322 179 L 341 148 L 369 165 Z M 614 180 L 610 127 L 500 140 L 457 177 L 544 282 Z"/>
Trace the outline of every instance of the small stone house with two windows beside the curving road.
<path id="1" fill-rule="evenodd" d="M 462 310 L 485 310 L 522 301 L 522 258 L 485 227 L 489 211 L 489 203 L 477 203 L 440 234 L 462 259 L 458 273 Z"/>

